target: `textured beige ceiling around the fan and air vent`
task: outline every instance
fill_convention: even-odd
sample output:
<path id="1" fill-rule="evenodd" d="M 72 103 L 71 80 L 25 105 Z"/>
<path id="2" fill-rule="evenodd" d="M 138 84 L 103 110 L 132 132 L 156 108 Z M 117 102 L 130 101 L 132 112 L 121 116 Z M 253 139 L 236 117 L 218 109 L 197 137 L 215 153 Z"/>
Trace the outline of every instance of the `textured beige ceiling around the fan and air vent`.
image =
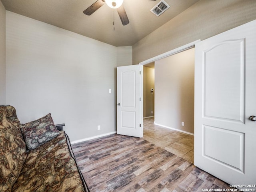
<path id="1" fill-rule="evenodd" d="M 123 26 L 115 10 L 106 4 L 87 16 L 83 11 L 96 0 L 1 0 L 6 10 L 21 14 L 113 46 L 131 46 L 198 2 L 199 0 L 165 0 L 170 8 L 155 16 L 150 10 L 160 0 L 124 0 L 130 23 Z"/>

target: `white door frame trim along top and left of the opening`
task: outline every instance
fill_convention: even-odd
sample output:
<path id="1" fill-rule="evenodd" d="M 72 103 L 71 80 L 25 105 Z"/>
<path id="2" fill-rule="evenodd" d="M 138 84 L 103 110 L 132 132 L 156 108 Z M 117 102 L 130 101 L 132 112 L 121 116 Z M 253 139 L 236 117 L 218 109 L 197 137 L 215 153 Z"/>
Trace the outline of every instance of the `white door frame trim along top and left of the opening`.
<path id="1" fill-rule="evenodd" d="M 163 53 L 163 54 L 160 54 L 160 55 L 158 55 L 158 56 L 149 58 L 149 59 L 147 59 L 147 60 L 145 60 L 145 61 L 140 62 L 139 65 L 144 66 L 144 65 L 146 65 L 146 64 L 155 62 L 156 60 L 160 60 L 160 59 L 166 58 L 166 57 L 168 57 L 168 56 L 171 56 L 171 55 L 180 53 L 180 52 L 182 52 L 182 51 L 186 51 L 186 50 L 188 50 L 188 49 L 190 49 L 190 48 L 195 47 L 195 44 L 198 43 L 198 42 L 200 42 L 200 41 L 201 41 L 201 40 L 199 39 L 199 40 L 193 41 L 193 42 L 191 42 L 191 43 L 188 43 L 188 44 L 186 44 L 186 45 L 183 45 L 183 46 L 180 46 L 180 47 L 178 47 L 178 48 L 175 48 L 175 49 L 173 49 L 173 50 L 170 50 L 170 51 L 168 51 L 168 52 L 165 52 L 165 53 Z M 141 122 L 142 122 L 141 128 L 142 128 L 142 133 L 143 133 L 143 102 L 144 102 L 144 100 L 143 100 L 143 86 L 144 86 L 144 84 L 143 84 L 143 68 L 142 68 L 142 86 L 141 86 L 141 111 L 142 111 L 142 112 L 141 112 Z"/>

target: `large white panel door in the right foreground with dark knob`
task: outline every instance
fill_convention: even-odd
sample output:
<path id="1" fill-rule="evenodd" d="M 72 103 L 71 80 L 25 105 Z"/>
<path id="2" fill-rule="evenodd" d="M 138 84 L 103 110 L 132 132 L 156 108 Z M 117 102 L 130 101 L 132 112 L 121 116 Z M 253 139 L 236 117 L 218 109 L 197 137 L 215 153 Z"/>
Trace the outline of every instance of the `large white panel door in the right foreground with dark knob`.
<path id="1" fill-rule="evenodd" d="M 194 164 L 229 184 L 255 185 L 256 20 L 195 47 Z"/>

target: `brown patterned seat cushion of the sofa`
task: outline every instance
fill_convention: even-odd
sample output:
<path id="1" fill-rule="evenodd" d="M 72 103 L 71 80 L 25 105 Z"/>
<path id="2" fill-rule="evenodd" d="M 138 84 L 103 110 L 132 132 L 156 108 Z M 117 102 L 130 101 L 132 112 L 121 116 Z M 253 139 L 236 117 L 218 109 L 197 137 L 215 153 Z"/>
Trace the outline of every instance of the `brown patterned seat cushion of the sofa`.
<path id="1" fill-rule="evenodd" d="M 64 131 L 28 152 L 12 192 L 84 192 L 75 160 L 70 156 Z"/>

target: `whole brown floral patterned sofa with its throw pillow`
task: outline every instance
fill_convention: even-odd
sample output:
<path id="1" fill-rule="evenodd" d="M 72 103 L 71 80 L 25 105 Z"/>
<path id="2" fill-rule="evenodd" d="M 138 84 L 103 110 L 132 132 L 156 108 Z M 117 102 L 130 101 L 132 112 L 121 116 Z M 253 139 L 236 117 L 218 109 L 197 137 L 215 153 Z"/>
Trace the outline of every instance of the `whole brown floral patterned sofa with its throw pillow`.
<path id="1" fill-rule="evenodd" d="M 64 131 L 51 114 L 20 124 L 12 106 L 0 106 L 1 192 L 88 192 Z"/>

